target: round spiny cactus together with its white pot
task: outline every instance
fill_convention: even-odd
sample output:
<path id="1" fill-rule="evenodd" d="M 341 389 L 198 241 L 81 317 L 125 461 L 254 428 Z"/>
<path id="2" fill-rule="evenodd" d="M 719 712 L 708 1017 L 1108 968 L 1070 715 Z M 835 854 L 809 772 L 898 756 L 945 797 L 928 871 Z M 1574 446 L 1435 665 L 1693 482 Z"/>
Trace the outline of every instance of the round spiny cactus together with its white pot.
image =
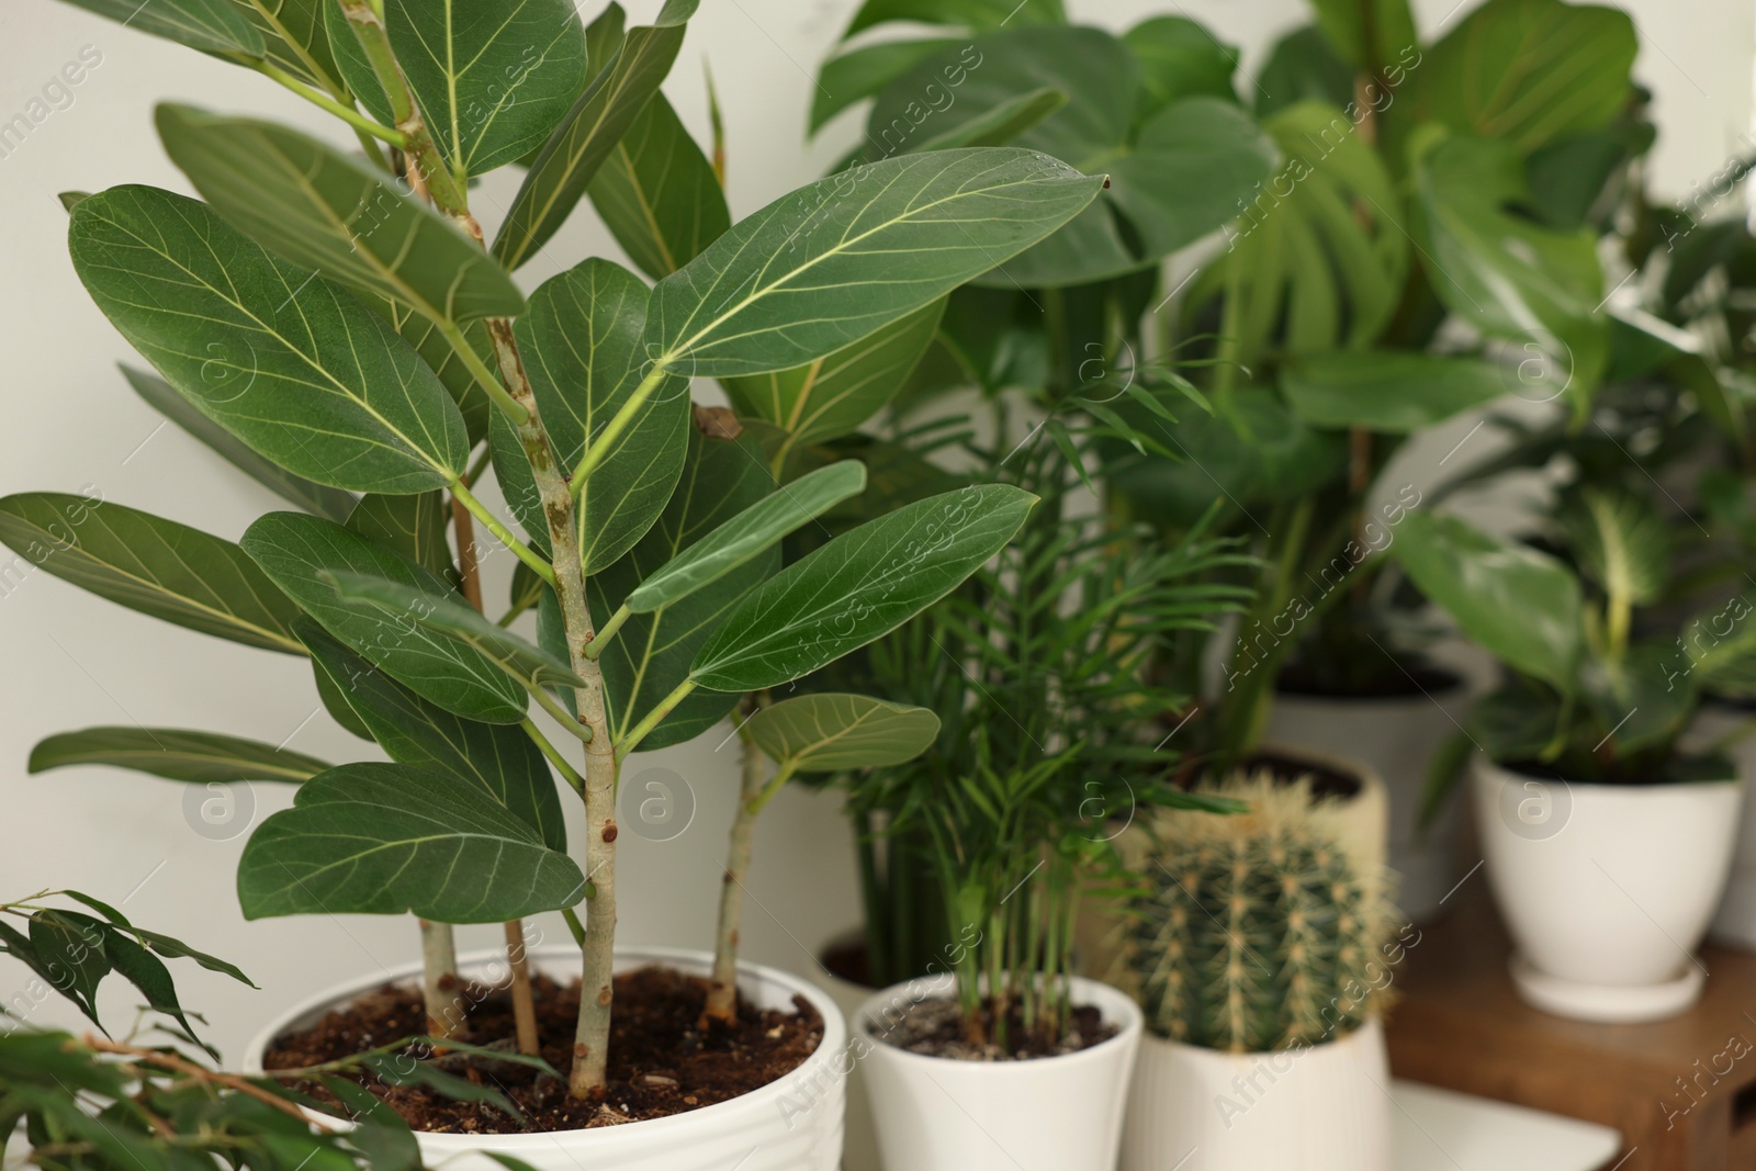
<path id="1" fill-rule="evenodd" d="M 1407 938 L 1385 871 L 1310 778 L 1238 772 L 1201 792 L 1249 811 L 1166 811 L 1136 860 L 1147 894 L 1119 969 L 1147 1034 L 1120 1166 L 1387 1171 L 1380 1017 Z"/>

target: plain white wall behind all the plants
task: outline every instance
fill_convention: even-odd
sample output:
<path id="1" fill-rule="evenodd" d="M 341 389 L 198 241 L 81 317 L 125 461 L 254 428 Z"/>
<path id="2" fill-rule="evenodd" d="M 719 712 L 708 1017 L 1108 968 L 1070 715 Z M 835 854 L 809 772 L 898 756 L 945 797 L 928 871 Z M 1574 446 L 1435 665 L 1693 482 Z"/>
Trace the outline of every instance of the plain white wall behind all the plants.
<path id="1" fill-rule="evenodd" d="M 1071 2 L 1082 16 L 1117 28 L 1157 11 L 1187 12 L 1249 46 L 1252 74 L 1264 40 L 1299 19 L 1294 0 Z M 629 7 L 641 21 L 658 2 Z M 1426 28 L 1454 21 L 1450 7 L 1450 0 L 1421 4 Z M 666 88 L 704 137 L 702 65 L 711 61 L 727 118 L 736 214 L 811 179 L 852 139 L 843 118 L 818 144 L 801 142 L 813 67 L 852 9 L 853 0 L 702 5 Z M 1644 37 L 1640 77 L 1658 91 L 1663 125 L 1661 188 L 1688 195 L 1749 126 L 1751 9 L 1747 0 L 1640 0 L 1633 9 Z M 72 104 L 0 158 L 0 492 L 98 492 L 235 539 L 276 500 L 163 427 L 121 383 L 114 363 L 132 353 L 74 277 L 54 193 L 125 181 L 188 190 L 151 130 L 151 105 L 160 98 L 262 112 L 339 144 L 346 139 L 263 79 L 51 0 L 9 0 L 0 12 L 0 121 L 25 111 L 84 46 L 102 61 L 74 90 Z M 513 179 L 490 177 L 474 197 L 490 223 L 509 202 Z M 615 249 L 583 211 L 525 276 L 536 283 L 592 251 Z M 499 595 L 506 560 L 490 565 L 490 590 Z M 9 667 L 0 676 L 0 899 L 42 887 L 84 888 L 146 925 L 242 964 L 262 992 L 179 973 L 186 1001 L 211 1017 L 212 1036 L 232 1055 L 265 1013 L 328 981 L 416 955 L 413 927 L 402 918 L 242 923 L 232 881 L 244 830 L 284 806 L 286 788 L 241 790 L 241 808 L 225 829 L 230 836 L 212 839 L 197 832 L 200 816 L 184 811 L 186 797 L 205 794 L 97 769 L 25 774 L 40 736 L 90 723 L 220 729 L 332 760 L 365 755 L 365 746 L 316 711 L 302 660 L 156 623 L 0 557 L 0 662 Z M 706 946 L 711 939 L 736 785 L 732 748 L 716 751 L 718 736 L 637 758 L 627 772 L 625 785 L 639 788 L 643 769 L 673 769 L 699 804 L 690 829 L 673 841 L 623 834 L 622 938 L 630 943 Z M 750 890 L 745 939 L 753 959 L 806 969 L 806 948 L 857 918 L 836 799 L 788 792 L 771 808 L 757 834 Z M 541 927 L 553 941 L 565 938 L 558 920 Z M 474 946 L 495 938 L 495 929 L 465 932 Z M 25 983 L 16 964 L 0 966 L 0 999 L 12 1001 Z M 112 992 L 112 1020 L 125 1022 L 130 1002 Z M 70 1017 L 46 1006 L 35 1020 Z"/>

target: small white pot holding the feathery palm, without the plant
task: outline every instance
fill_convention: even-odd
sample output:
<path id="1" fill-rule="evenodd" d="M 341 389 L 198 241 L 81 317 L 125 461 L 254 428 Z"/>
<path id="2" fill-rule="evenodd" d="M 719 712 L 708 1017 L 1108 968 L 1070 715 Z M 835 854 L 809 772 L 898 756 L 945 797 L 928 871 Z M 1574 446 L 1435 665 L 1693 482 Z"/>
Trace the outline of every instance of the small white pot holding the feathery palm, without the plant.
<path id="1" fill-rule="evenodd" d="M 952 995 L 950 974 L 922 976 L 869 997 L 853 1015 L 885 1171 L 1113 1171 L 1140 1008 L 1110 985 L 1073 980 L 1117 1036 L 1076 1053 L 971 1062 L 910 1053 L 880 1038 L 899 1013 Z"/>

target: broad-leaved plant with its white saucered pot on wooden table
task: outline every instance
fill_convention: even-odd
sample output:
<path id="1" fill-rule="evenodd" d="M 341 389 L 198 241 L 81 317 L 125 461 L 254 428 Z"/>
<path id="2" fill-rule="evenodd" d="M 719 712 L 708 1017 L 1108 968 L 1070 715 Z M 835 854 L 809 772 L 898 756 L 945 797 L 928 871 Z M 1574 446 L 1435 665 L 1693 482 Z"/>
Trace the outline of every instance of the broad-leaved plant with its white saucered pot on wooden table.
<path id="1" fill-rule="evenodd" d="M 1507 671 L 1438 778 L 1470 760 L 1482 850 L 1531 1004 L 1656 1020 L 1702 992 L 1691 948 L 1731 862 L 1742 783 L 1679 741 L 1740 655 L 1691 658 L 1637 609 L 1666 578 L 1651 500 L 1586 486 L 1545 532 L 1561 557 L 1454 516 L 1410 518 L 1394 557 Z M 1617 897 L 1619 895 L 1619 897 Z"/>

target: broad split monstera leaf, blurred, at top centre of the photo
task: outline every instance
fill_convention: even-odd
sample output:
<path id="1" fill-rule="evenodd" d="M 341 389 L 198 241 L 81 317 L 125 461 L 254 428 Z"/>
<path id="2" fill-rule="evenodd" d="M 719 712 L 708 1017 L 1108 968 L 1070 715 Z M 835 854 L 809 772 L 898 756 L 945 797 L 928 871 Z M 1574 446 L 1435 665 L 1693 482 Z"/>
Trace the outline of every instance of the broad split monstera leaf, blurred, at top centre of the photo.
<path id="1" fill-rule="evenodd" d="M 1098 28 L 1008 28 L 922 60 L 878 97 L 860 156 L 931 149 L 1043 91 L 1066 105 L 1015 144 L 1108 174 L 1110 190 L 989 283 L 1078 284 L 1140 269 L 1224 225 L 1273 165 L 1233 100 L 1187 98 L 1138 125 L 1152 104 L 1140 65 Z"/>

